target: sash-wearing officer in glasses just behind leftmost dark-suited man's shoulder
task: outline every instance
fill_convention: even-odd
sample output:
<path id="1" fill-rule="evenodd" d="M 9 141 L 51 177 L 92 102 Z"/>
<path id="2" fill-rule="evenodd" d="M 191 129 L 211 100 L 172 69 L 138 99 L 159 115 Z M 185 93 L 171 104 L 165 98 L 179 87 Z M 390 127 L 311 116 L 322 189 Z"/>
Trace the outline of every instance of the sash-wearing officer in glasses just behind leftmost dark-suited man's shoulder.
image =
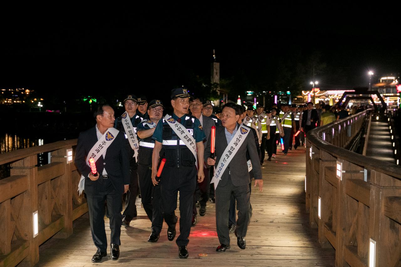
<path id="1" fill-rule="evenodd" d="M 124 108 L 127 111 L 128 116 L 131 119 L 132 126 L 134 127 L 134 132 L 136 133 L 136 126 L 140 122 L 136 119 L 136 109 L 138 107 L 138 100 L 135 95 L 129 94 L 127 95 L 126 99 L 124 99 Z M 121 116 L 118 117 L 114 122 L 114 128 L 126 133 L 124 129 L 124 125 L 122 123 Z M 129 227 L 131 220 L 136 218 L 137 210 L 135 205 L 136 196 L 138 194 L 138 164 L 136 163 L 136 159 L 134 156 L 134 150 L 132 150 L 128 139 L 127 139 L 127 146 L 129 147 L 129 154 L 130 154 L 130 175 L 131 175 L 131 184 L 130 188 L 126 194 L 126 205 L 125 210 L 123 212 L 123 221 L 122 225 L 125 227 Z"/>

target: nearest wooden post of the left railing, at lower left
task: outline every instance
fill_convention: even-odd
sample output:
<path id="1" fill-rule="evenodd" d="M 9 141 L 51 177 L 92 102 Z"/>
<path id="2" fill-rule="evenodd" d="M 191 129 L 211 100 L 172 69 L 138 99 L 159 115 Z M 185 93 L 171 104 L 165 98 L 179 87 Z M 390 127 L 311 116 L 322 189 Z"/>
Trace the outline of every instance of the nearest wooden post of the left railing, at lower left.
<path id="1" fill-rule="evenodd" d="M 26 191 L 26 204 L 22 205 L 21 214 L 24 216 L 23 237 L 29 242 L 29 253 L 28 256 L 21 263 L 22 265 L 33 266 L 39 261 L 39 245 L 38 238 L 33 237 L 33 212 L 38 210 L 38 183 L 37 174 L 38 168 L 37 155 L 29 156 L 18 160 L 11 164 L 12 169 L 10 170 L 11 175 L 26 175 L 28 176 L 28 190 Z"/>

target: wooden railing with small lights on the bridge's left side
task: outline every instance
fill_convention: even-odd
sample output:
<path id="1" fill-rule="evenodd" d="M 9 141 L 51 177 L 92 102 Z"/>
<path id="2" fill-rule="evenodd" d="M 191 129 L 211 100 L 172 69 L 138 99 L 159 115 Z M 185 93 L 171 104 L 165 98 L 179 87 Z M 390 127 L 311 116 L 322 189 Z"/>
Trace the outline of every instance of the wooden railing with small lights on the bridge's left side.
<path id="1" fill-rule="evenodd" d="M 0 180 L 0 266 L 21 261 L 34 265 L 39 245 L 53 236 L 69 237 L 73 220 L 87 212 L 85 198 L 77 193 L 76 145 L 75 139 L 0 155 L 0 165 L 12 167 L 10 177 Z M 67 149 L 73 150 L 71 163 L 67 163 Z M 38 167 L 38 154 L 45 152 L 51 153 L 51 162 Z M 38 234 L 34 237 L 36 211 Z"/>

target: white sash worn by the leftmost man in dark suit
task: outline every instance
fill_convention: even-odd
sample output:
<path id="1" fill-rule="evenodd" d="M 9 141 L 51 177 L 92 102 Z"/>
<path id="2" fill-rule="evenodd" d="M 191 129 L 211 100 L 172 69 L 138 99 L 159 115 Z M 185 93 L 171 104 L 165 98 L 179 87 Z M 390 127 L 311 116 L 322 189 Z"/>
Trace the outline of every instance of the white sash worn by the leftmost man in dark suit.
<path id="1" fill-rule="evenodd" d="M 95 126 L 97 127 L 97 126 Z M 115 137 L 119 133 L 119 130 L 111 127 L 103 134 L 103 136 L 96 142 L 96 144 L 89 150 L 88 156 L 86 157 L 86 164 L 91 166 L 89 159 L 93 158 L 95 162 L 103 155 L 103 152 L 113 143 Z M 81 179 L 78 184 L 79 194 L 85 189 L 85 177 L 81 175 Z"/>

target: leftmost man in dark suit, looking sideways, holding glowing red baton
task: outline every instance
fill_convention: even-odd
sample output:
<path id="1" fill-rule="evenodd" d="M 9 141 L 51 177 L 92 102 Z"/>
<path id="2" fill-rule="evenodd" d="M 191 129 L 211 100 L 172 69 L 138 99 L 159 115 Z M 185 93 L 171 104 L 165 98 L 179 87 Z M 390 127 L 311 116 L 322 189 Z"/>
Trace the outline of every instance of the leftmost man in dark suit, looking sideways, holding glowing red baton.
<path id="1" fill-rule="evenodd" d="M 92 239 L 97 252 L 92 262 L 101 261 L 107 256 L 107 237 L 104 225 L 104 202 L 107 201 L 107 218 L 111 229 L 111 259 L 119 257 L 119 245 L 122 223 L 122 194 L 130 185 L 130 163 L 123 133 L 118 133 L 114 141 L 96 161 L 97 175 L 94 176 L 87 165 L 87 156 L 91 148 L 103 134 L 114 125 L 114 111 L 109 105 L 100 105 L 93 113 L 97 124 L 81 132 L 75 151 L 75 165 L 85 177 L 85 194 L 89 208 Z"/>

